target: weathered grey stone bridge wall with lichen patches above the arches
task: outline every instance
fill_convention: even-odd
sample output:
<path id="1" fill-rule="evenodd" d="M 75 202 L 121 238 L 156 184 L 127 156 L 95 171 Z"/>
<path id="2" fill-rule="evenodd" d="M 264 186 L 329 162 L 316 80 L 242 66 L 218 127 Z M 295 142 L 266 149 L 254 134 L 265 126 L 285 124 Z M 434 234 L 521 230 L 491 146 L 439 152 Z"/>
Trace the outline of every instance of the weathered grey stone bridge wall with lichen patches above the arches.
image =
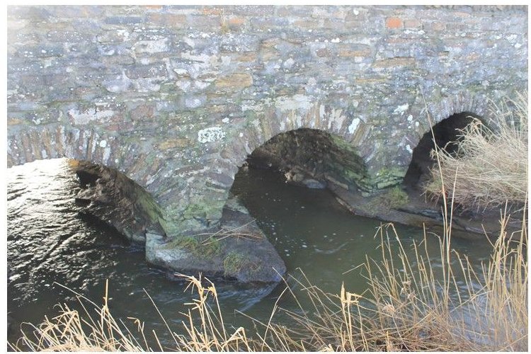
<path id="1" fill-rule="evenodd" d="M 7 164 L 110 166 L 215 225 L 246 157 L 340 137 L 373 191 L 432 124 L 527 88 L 527 6 L 9 6 Z"/>

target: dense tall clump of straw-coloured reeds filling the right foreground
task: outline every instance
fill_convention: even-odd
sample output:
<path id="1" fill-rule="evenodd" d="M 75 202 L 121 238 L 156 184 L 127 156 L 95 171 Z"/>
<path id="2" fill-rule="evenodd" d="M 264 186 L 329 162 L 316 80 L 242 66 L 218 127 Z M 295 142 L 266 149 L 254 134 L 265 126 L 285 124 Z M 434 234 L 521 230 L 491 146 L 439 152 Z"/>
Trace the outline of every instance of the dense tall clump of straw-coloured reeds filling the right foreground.
<path id="1" fill-rule="evenodd" d="M 503 220 L 505 227 L 508 216 Z M 263 324 L 264 349 L 527 350 L 524 242 L 508 241 L 502 232 L 491 261 L 476 273 L 465 256 L 451 249 L 449 239 L 440 239 L 442 261 L 433 263 L 424 241 L 413 246 L 416 257 L 408 258 L 392 224 L 382 226 L 378 236 L 383 261 L 364 264 L 367 293 L 341 287 L 339 295 L 331 295 L 306 279 L 299 282 L 299 293 L 288 289 L 299 311 L 278 309 L 292 320 L 289 328 L 274 321 Z M 527 239 L 526 229 L 520 239 Z M 302 305 L 308 302 L 312 307 Z"/>

